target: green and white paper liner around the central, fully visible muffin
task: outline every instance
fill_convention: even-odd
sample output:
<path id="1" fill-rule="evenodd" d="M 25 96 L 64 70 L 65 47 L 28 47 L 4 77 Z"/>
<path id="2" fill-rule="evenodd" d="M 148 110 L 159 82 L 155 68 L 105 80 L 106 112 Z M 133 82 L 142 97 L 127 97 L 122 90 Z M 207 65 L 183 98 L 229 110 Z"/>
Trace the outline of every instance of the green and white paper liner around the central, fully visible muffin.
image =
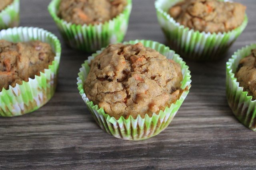
<path id="1" fill-rule="evenodd" d="M 120 119 L 116 120 L 114 117 L 106 114 L 104 109 L 99 108 L 98 105 L 94 105 L 84 93 L 84 80 L 90 71 L 90 62 L 94 57 L 99 55 L 101 51 L 97 51 L 91 57 L 88 57 L 88 60 L 82 64 L 82 68 L 80 68 L 80 72 L 78 73 L 78 90 L 82 99 L 84 100 L 86 106 L 88 107 L 90 113 L 94 117 L 95 121 L 98 125 L 106 130 L 107 133 L 113 135 L 116 138 L 126 139 L 126 140 L 142 140 L 148 139 L 155 135 L 158 135 L 161 131 L 163 131 L 172 121 L 174 116 L 176 115 L 178 109 L 182 105 L 186 96 L 188 95 L 190 84 L 191 84 L 191 76 L 190 70 L 188 70 L 188 66 L 179 55 L 175 54 L 174 51 L 170 50 L 169 47 L 164 46 L 158 42 L 149 41 L 149 40 L 135 40 L 124 42 L 124 44 L 136 44 L 141 42 L 145 47 L 151 47 L 156 51 L 159 51 L 162 55 L 165 55 L 168 59 L 172 59 L 180 64 L 182 68 L 183 80 L 181 82 L 181 88 L 184 90 L 180 98 L 176 101 L 175 104 L 172 104 L 170 107 L 166 107 L 164 111 L 160 111 L 159 114 L 153 113 L 152 117 L 146 114 L 145 118 L 138 117 L 134 119 L 132 116 L 129 116 L 125 119 L 123 116 Z"/>

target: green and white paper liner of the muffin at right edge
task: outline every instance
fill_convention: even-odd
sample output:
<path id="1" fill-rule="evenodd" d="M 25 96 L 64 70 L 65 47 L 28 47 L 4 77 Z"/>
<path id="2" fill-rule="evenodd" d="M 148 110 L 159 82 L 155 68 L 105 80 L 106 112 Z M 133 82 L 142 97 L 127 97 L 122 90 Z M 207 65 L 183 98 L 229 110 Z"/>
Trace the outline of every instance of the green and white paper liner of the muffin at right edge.
<path id="1" fill-rule="evenodd" d="M 244 126 L 256 131 L 256 100 L 252 100 L 252 96 L 248 96 L 248 92 L 243 91 L 243 87 L 239 86 L 235 78 L 239 61 L 250 55 L 252 49 L 256 49 L 256 44 L 238 50 L 226 63 L 226 95 L 228 105 L 236 118 Z"/>

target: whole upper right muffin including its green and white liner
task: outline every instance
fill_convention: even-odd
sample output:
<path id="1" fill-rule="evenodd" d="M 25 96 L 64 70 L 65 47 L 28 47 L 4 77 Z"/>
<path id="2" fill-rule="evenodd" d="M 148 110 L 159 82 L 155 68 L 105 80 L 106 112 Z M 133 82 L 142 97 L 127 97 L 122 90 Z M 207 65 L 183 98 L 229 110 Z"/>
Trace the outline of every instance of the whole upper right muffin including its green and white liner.
<path id="1" fill-rule="evenodd" d="M 157 0 L 158 21 L 172 47 L 194 60 L 220 59 L 247 25 L 246 7 L 222 0 Z"/>

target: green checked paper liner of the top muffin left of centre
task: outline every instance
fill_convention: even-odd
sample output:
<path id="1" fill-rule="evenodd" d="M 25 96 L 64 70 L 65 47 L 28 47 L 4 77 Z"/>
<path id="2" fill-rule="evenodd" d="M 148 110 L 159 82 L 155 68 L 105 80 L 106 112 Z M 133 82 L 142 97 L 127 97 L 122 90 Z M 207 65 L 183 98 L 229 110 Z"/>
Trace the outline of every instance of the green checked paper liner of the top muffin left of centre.
<path id="1" fill-rule="evenodd" d="M 71 48 L 90 53 L 110 43 L 123 41 L 132 10 L 132 0 L 127 0 L 126 8 L 116 18 L 96 25 L 76 25 L 60 19 L 57 16 L 60 1 L 52 0 L 48 10 L 66 44 Z"/>

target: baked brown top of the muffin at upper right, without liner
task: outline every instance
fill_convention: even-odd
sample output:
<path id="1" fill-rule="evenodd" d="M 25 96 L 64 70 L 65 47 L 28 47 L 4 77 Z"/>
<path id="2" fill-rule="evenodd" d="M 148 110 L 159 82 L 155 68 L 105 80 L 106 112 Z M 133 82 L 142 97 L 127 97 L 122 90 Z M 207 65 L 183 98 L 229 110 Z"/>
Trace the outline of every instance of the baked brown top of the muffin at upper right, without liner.
<path id="1" fill-rule="evenodd" d="M 169 10 L 178 23 L 200 32 L 228 32 L 244 21 L 246 7 L 219 0 L 186 0 Z"/>

